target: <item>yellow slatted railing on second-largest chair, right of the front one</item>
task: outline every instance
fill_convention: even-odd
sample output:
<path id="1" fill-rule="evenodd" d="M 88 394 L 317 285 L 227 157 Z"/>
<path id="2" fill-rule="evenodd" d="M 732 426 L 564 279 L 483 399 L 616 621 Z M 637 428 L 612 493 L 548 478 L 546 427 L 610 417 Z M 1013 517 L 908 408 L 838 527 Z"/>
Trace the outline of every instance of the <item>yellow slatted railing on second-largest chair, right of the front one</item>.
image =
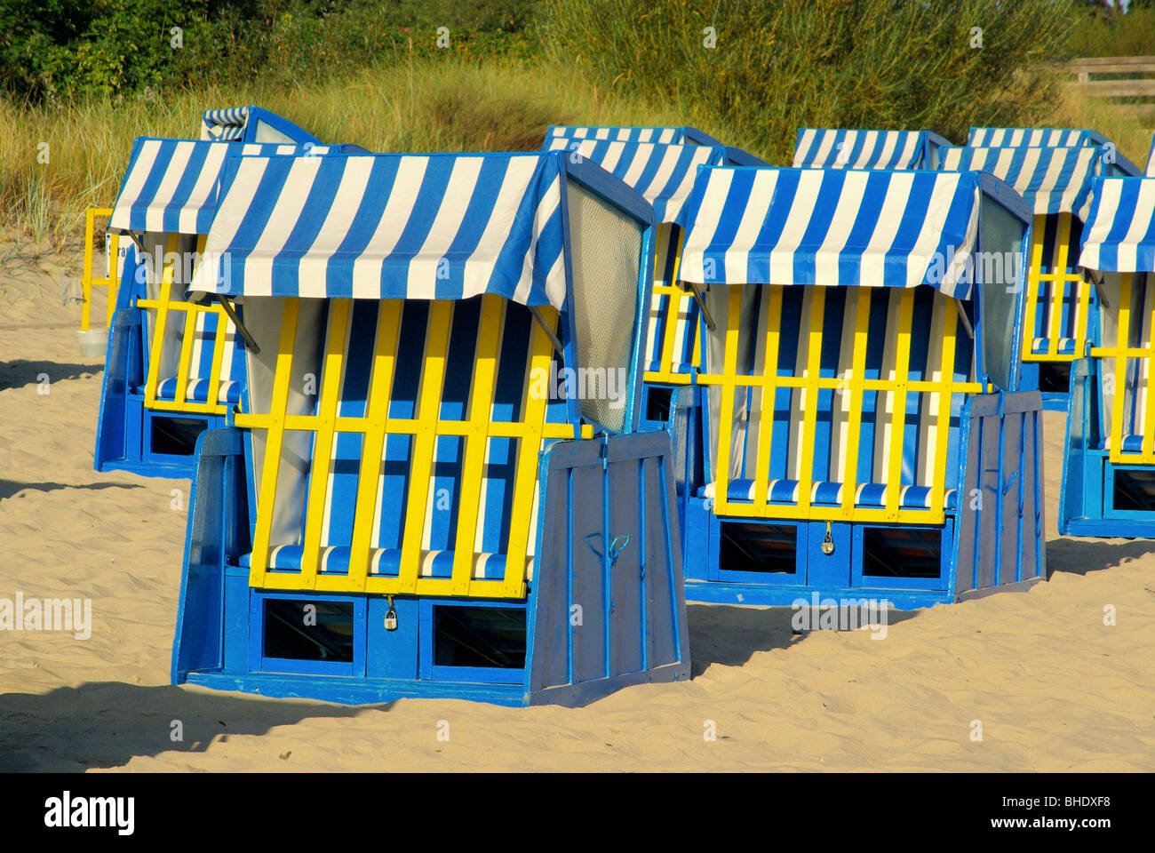
<path id="1" fill-rule="evenodd" d="M 903 290 L 900 296 L 897 311 L 897 326 L 888 327 L 885 334 L 893 338 L 894 366 L 891 377 L 879 379 L 866 379 L 866 353 L 870 342 L 870 311 L 871 296 L 875 291 L 873 288 L 858 288 L 856 297 L 856 313 L 854 318 L 854 350 L 851 366 L 844 371 L 843 376 L 821 377 L 819 376 L 820 358 L 822 353 L 822 340 L 826 329 L 824 328 L 824 311 L 826 304 L 826 291 L 828 288 L 812 288 L 810 317 L 803 318 L 803 327 L 799 335 L 803 335 L 805 346 L 805 357 L 799 348 L 799 366 L 795 376 L 778 376 L 780 344 L 782 341 L 782 291 L 783 288 L 767 285 L 768 310 L 766 320 L 765 338 L 760 343 L 762 353 L 762 369 L 757 374 L 738 372 L 739 335 L 748 331 L 748 324 L 743 322 L 742 284 L 731 284 L 729 291 L 729 311 L 724 328 L 724 357 L 721 373 L 705 372 L 699 376 L 698 381 L 702 385 L 717 387 L 721 396 L 721 416 L 717 424 L 717 440 L 715 445 L 715 472 L 714 472 L 714 502 L 715 513 L 718 515 L 731 515 L 739 518 L 787 518 L 787 519 L 815 519 L 815 520 L 849 520 L 849 521 L 899 521 L 911 524 L 941 524 L 945 519 L 944 500 L 946 496 L 946 466 L 948 431 L 951 426 L 952 400 L 955 394 L 975 394 L 982 391 L 979 383 L 960 383 L 954 379 L 955 351 L 956 351 L 956 327 L 957 317 L 955 310 L 949 305 L 947 297 L 936 296 L 936 311 L 944 333 L 941 335 L 941 355 L 936 372 L 938 380 L 933 379 L 910 379 L 910 349 L 911 349 L 911 325 L 914 320 L 914 290 Z M 849 297 L 848 297 L 849 310 Z M 849 321 L 849 318 L 847 318 Z M 720 324 L 721 325 L 721 324 Z M 753 334 L 753 331 L 748 331 Z M 843 336 L 843 329 L 830 329 L 832 334 Z M 933 346 L 933 341 L 932 341 Z M 797 373 L 800 372 L 800 376 Z M 731 500 L 729 498 L 729 487 L 731 482 L 731 459 L 733 454 L 733 429 L 737 418 L 736 396 L 740 394 L 745 399 L 747 390 L 761 390 L 761 414 L 758 418 L 758 444 L 754 468 L 754 492 L 753 499 L 748 502 Z M 770 450 L 773 428 L 776 420 L 775 392 L 778 388 L 800 390 L 800 423 L 792 423 L 790 443 L 798 448 L 800 455 L 799 485 L 797 504 L 774 503 L 768 500 L 770 481 Z M 813 505 L 811 494 L 814 487 L 813 461 L 814 461 L 814 436 L 818 420 L 817 396 L 821 390 L 840 391 L 849 394 L 849 407 L 845 409 L 848 423 L 845 430 L 845 455 L 843 470 L 844 481 L 840 506 Z M 856 506 L 856 497 L 859 483 L 856 482 L 858 470 L 859 440 L 862 433 L 862 417 L 864 406 L 864 394 L 866 392 L 879 392 L 877 424 L 874 442 L 888 440 L 888 452 L 885 455 L 886 472 L 885 481 L 895 484 L 895 488 L 887 488 L 886 505 L 882 507 Z M 884 394 L 887 398 L 887 407 L 884 409 Z M 903 459 L 904 428 L 907 424 L 907 402 L 910 394 L 926 395 L 925 407 L 934 413 L 934 458 L 932 467 L 932 482 L 930 487 L 930 506 L 927 509 L 902 509 L 900 506 L 901 477 Z M 925 408 L 924 407 L 924 408 Z M 889 411 L 889 436 L 882 423 L 884 411 Z M 797 416 L 793 416 L 797 417 Z M 745 426 L 745 425 L 744 425 Z M 867 452 L 873 452 L 869 448 Z"/>

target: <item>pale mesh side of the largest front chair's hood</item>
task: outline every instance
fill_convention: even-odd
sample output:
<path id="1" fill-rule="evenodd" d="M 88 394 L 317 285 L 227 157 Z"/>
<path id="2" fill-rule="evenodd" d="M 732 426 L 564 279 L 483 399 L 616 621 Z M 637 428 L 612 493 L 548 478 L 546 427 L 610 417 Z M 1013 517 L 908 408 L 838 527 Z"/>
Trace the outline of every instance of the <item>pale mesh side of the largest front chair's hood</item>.
<path id="1" fill-rule="evenodd" d="M 642 229 L 573 181 L 567 192 L 578 361 L 583 371 L 578 377 L 581 410 L 620 432 L 638 314 Z"/>

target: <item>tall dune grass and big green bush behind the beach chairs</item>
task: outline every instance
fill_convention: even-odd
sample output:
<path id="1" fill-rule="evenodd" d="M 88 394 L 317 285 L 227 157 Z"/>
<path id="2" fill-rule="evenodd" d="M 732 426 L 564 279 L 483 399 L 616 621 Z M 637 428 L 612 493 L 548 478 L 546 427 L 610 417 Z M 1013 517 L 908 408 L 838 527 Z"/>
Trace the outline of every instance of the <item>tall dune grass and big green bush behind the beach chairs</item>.
<path id="1" fill-rule="evenodd" d="M 953 15 L 893 0 L 542 0 L 519 42 L 532 45 L 528 54 L 415 51 L 367 67 L 335 61 L 325 34 L 336 28 L 310 24 L 293 74 L 245 73 L 232 60 L 215 82 L 158 94 L 38 106 L 0 98 L 0 224 L 37 245 L 77 243 L 84 208 L 114 200 L 134 138 L 195 138 L 203 110 L 241 104 L 374 151 L 535 150 L 550 124 L 695 125 L 785 164 L 799 126 L 930 128 L 961 142 L 973 124 L 1051 124 L 1100 129 L 1142 162 L 1145 128 L 1064 92 L 1043 61 L 1070 55 L 1082 37 L 1072 28 L 1086 13 L 1071 9 L 1071 0 L 959 0 Z M 984 28 L 981 49 L 973 24 Z M 703 45 L 708 25 L 714 49 Z M 42 143 L 47 163 L 37 161 Z"/>

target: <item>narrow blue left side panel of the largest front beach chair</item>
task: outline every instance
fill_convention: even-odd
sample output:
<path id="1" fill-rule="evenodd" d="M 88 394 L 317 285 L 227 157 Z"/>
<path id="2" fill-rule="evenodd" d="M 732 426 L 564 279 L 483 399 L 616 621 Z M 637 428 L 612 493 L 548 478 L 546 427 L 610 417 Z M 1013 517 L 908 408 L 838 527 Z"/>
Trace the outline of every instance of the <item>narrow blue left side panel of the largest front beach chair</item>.
<path id="1" fill-rule="evenodd" d="M 248 531 L 240 431 L 203 432 L 196 451 L 172 650 L 173 684 L 193 669 L 223 665 L 225 559 L 247 549 L 247 542 L 237 541 Z"/>

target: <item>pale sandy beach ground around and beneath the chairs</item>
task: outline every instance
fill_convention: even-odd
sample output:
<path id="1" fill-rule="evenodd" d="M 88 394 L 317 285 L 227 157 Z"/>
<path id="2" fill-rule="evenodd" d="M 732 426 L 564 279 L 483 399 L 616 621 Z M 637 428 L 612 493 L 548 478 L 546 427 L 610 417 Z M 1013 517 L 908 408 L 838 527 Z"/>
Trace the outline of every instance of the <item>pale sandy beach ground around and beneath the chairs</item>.
<path id="1" fill-rule="evenodd" d="M 102 359 L 59 296 L 79 258 L 0 255 L 0 598 L 92 601 L 87 639 L 0 631 L 0 770 L 1155 770 L 1155 541 L 1058 536 L 1056 414 L 1050 579 L 892 614 L 885 639 L 692 604 L 692 681 L 579 710 L 171 687 L 188 482 L 92 469 Z"/>

